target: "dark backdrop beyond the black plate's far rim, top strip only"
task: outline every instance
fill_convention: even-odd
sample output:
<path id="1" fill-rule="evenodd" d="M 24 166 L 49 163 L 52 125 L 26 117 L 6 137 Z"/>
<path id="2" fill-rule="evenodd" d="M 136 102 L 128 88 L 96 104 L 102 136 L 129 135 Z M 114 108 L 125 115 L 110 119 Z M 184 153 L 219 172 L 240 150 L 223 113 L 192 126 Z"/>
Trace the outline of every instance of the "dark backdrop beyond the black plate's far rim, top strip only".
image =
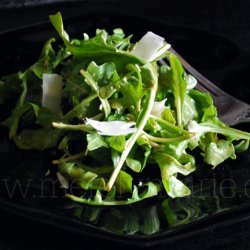
<path id="1" fill-rule="evenodd" d="M 118 11 L 225 35 L 249 52 L 249 6 L 248 0 L 3 0 L 0 2 L 0 31 L 47 21 L 48 15 L 58 10 L 65 17 Z"/>

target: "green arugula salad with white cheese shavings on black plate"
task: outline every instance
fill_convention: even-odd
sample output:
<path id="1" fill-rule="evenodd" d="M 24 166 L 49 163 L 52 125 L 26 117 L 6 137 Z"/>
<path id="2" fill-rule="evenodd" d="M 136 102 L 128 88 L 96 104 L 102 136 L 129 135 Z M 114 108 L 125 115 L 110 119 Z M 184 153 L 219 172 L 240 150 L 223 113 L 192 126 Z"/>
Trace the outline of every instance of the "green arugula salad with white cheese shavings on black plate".
<path id="1" fill-rule="evenodd" d="M 218 119 L 164 38 L 148 32 L 132 43 L 118 28 L 75 39 L 60 13 L 50 21 L 62 42 L 49 39 L 33 65 L 0 78 L 0 105 L 16 98 L 2 125 L 21 150 L 56 148 L 61 185 L 81 188 L 66 192 L 70 199 L 127 205 L 159 192 L 188 196 L 194 152 L 215 168 L 248 149 L 250 134 Z"/>

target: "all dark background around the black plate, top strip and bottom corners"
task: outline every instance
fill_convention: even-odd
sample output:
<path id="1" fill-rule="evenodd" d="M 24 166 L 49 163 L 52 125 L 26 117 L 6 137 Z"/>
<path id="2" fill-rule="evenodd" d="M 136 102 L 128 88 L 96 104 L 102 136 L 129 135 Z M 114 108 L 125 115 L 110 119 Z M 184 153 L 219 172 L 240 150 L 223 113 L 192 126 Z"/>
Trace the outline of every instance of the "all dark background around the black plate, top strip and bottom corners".
<path id="1" fill-rule="evenodd" d="M 192 27 L 224 36 L 250 54 L 250 2 L 248 0 L 83 0 L 1 1 L 0 32 L 27 24 L 46 22 L 48 15 L 63 16 L 118 12 L 161 20 L 180 27 Z M 0 41 L 1 46 L 1 41 Z M 1 56 L 1 55 L 0 55 Z M 250 222 L 187 238 L 157 249 L 248 249 Z M 65 232 L 0 211 L 0 249 L 127 249 L 126 246 Z M 129 247 L 131 248 L 131 247 Z"/>

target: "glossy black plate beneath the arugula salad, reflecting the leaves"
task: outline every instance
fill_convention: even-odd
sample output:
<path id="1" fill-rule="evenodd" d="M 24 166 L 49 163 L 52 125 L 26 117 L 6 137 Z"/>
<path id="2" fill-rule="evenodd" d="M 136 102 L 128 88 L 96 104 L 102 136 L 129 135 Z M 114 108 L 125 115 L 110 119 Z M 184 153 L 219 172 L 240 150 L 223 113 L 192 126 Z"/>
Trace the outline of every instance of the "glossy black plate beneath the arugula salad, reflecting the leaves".
<path id="1" fill-rule="evenodd" d="M 180 54 L 229 93 L 247 101 L 250 67 L 248 55 L 229 40 L 200 30 L 167 25 L 149 19 L 98 13 L 66 20 L 66 30 L 93 34 L 96 28 L 122 27 L 136 41 L 148 30 L 164 36 Z M 50 24 L 36 24 L 0 34 L 0 75 L 23 70 L 38 57 L 44 41 L 55 32 Z M 240 79 L 240 81 L 239 81 Z M 239 88 L 233 88 L 237 80 Z M 9 105 L 9 104 L 8 104 Z M 1 107 L 1 120 L 8 113 Z M 246 126 L 245 129 L 250 129 Z M 49 154 L 48 154 L 49 153 Z M 25 152 L 15 148 L 0 131 L 0 207 L 21 216 L 79 234 L 135 246 L 179 241 L 247 219 L 250 208 L 250 154 L 227 161 L 212 172 L 198 164 L 186 179 L 192 189 L 187 198 L 166 196 L 122 207 L 90 207 L 70 202 L 51 176 L 50 152 Z"/>

